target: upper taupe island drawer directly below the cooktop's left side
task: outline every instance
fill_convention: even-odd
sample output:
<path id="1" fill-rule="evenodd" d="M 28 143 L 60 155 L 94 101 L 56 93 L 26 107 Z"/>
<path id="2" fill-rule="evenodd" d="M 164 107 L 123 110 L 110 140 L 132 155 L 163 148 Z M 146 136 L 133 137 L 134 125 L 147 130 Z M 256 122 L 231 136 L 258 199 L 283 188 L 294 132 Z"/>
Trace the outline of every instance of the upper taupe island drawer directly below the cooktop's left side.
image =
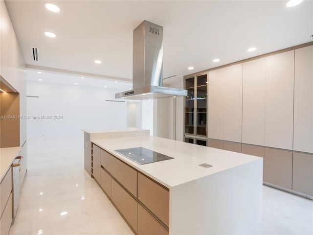
<path id="1" fill-rule="evenodd" d="M 137 196 L 137 171 L 129 165 L 112 157 L 112 176 L 129 190 L 135 197 Z"/>

